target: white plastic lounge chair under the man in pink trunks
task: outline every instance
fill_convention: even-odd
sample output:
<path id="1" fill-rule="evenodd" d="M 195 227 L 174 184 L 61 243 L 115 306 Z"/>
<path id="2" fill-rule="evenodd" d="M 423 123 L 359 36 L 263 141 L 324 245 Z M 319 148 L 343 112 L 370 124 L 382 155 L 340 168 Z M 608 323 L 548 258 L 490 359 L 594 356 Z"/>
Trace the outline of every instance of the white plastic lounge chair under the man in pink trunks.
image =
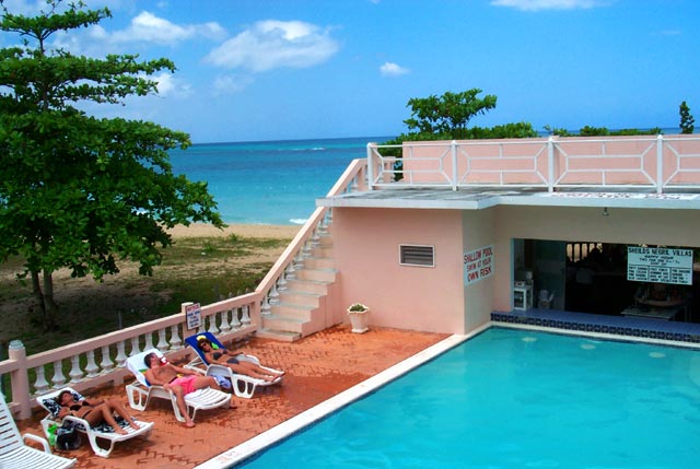
<path id="1" fill-rule="evenodd" d="M 133 373 L 133 376 L 136 376 L 137 379 L 132 384 L 127 385 L 129 406 L 137 410 L 144 410 L 151 398 L 170 399 L 173 403 L 175 418 L 179 422 L 185 422 L 185 417 L 183 417 L 177 407 L 177 401 L 173 391 L 163 389 L 163 386 L 151 386 L 145 379 L 145 375 L 143 373 L 147 371 L 147 367 L 143 363 L 143 359 L 149 353 L 155 353 L 158 356 L 163 356 L 158 349 L 151 349 L 127 359 L 127 367 L 131 373 Z M 195 392 L 185 395 L 185 403 L 187 404 L 187 410 L 191 411 L 191 419 L 195 420 L 195 414 L 198 410 L 230 407 L 231 395 L 212 388 L 198 389 Z"/>

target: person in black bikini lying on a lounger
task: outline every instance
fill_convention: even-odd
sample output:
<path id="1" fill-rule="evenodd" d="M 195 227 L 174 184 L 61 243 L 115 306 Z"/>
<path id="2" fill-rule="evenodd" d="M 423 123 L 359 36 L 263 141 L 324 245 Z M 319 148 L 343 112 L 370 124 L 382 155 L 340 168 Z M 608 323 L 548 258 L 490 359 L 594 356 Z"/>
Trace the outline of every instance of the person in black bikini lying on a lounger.
<path id="1" fill-rule="evenodd" d="M 124 430 L 114 418 L 114 413 L 116 412 L 129 422 L 129 425 L 131 425 L 133 430 L 140 429 L 139 424 L 133 421 L 124 406 L 114 399 L 81 399 L 77 401 L 71 391 L 65 390 L 56 397 L 56 401 L 61 407 L 61 410 L 58 412 L 60 419 L 66 415 L 74 415 L 85 420 L 90 426 L 106 422 L 116 433 L 126 435 L 127 431 Z"/>

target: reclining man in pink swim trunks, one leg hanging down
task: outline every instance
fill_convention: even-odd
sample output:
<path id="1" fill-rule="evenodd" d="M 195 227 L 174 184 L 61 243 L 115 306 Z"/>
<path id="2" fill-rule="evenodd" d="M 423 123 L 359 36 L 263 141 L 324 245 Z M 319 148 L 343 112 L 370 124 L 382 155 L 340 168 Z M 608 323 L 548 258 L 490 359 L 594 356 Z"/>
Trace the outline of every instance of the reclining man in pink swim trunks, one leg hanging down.
<path id="1" fill-rule="evenodd" d="M 217 379 L 213 376 L 201 376 L 197 372 L 175 366 L 172 363 L 163 363 L 155 353 L 145 355 L 143 362 L 149 368 L 144 373 L 145 379 L 151 385 L 163 386 L 163 389 L 172 390 L 175 395 L 177 408 L 185 418 L 185 426 L 188 429 L 195 426 L 195 422 L 187 412 L 185 396 L 206 387 L 221 389 Z"/>

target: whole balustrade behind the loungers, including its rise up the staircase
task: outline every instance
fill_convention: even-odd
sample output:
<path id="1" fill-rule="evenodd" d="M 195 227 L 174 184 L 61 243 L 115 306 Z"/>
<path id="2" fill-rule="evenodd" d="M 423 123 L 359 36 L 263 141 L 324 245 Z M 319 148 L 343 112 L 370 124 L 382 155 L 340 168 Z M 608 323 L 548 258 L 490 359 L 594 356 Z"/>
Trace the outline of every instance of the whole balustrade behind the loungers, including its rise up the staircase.
<path id="1" fill-rule="evenodd" d="M 328 195 L 366 187 L 365 162 L 355 160 Z M 329 209 L 314 211 L 254 292 L 235 297 L 229 294 L 229 298 L 200 307 L 202 321 L 198 330 L 187 329 L 184 304 L 179 314 L 30 356 L 20 341 L 12 341 L 9 359 L 0 362 L 0 378 L 10 377 L 8 406 L 16 417 L 25 419 L 36 406 L 36 398 L 52 389 L 70 384 L 80 391 L 105 383 L 122 383 L 129 375 L 127 359 L 144 350 L 156 348 L 178 360 L 189 354 L 183 347 L 184 339 L 199 331 L 208 330 L 222 341 L 255 332 L 261 316 L 269 314 L 270 303 L 303 267 L 304 255 L 318 244 L 331 222 Z"/>

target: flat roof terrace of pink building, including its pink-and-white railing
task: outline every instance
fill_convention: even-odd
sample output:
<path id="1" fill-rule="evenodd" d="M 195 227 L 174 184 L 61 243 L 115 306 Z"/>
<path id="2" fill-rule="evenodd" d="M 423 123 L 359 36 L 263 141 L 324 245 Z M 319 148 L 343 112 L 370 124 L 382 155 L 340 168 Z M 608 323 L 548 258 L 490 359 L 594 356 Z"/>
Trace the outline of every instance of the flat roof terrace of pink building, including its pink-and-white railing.
<path id="1" fill-rule="evenodd" d="M 352 172 L 351 172 L 352 173 Z M 700 138 L 635 136 L 368 144 L 319 207 L 700 208 Z"/>

